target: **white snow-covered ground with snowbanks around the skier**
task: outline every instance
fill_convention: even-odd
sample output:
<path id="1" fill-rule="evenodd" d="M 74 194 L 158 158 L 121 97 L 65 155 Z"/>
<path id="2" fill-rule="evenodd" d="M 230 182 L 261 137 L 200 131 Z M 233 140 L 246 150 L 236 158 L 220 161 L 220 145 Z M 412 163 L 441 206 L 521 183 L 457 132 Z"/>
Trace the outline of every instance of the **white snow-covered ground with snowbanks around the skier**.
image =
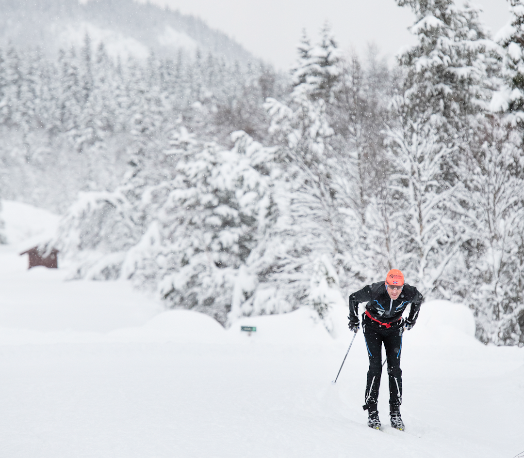
<path id="1" fill-rule="evenodd" d="M 376 431 L 362 410 L 361 332 L 332 384 L 351 339 L 344 306 L 332 311 L 334 337 L 306 309 L 244 318 L 225 330 L 205 315 L 163 311 L 126 282 L 64 281 L 61 269 L 28 271 L 17 244 L 38 234 L 26 227 L 35 224 L 31 217 L 20 222 L 28 208 L 16 207 L 3 202 L 8 237 L 19 239 L 0 247 L 2 457 L 513 458 L 524 452 L 524 349 L 476 341 L 471 312 L 461 305 L 422 305 L 403 341 L 406 431 L 388 426 L 385 369 L 379 399 L 385 426 Z M 257 331 L 247 335 L 241 325 Z"/>

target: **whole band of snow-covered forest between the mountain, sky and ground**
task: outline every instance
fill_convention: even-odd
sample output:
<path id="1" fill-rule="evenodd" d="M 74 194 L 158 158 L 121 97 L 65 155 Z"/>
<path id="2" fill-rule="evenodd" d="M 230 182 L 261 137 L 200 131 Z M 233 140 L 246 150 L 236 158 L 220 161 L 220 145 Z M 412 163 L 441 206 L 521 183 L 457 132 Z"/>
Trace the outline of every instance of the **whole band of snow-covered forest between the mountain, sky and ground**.
<path id="1" fill-rule="evenodd" d="M 289 77 L 179 52 L 0 48 L 0 195 L 63 213 L 74 278 L 130 279 L 227 326 L 330 304 L 390 268 L 524 345 L 524 4 L 396 0 L 388 68 L 303 35 Z M 453 319 L 452 316 L 449 317 Z M 326 327 L 330 327 L 328 319 Z"/>

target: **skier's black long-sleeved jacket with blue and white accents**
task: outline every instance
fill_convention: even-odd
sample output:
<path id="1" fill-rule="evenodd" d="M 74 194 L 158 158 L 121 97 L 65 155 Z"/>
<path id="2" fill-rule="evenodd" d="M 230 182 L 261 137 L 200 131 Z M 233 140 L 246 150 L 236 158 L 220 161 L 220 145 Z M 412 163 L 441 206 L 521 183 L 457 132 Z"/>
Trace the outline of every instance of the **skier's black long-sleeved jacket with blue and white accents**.
<path id="1" fill-rule="evenodd" d="M 398 298 L 393 300 L 389 297 L 383 281 L 368 284 L 350 296 L 350 316 L 348 318 L 351 322 L 358 322 L 358 304 L 361 302 L 367 302 L 366 310 L 381 323 L 397 322 L 406 307 L 412 304 L 408 321 L 414 324 L 419 316 L 422 294 L 417 288 L 405 283 Z"/>

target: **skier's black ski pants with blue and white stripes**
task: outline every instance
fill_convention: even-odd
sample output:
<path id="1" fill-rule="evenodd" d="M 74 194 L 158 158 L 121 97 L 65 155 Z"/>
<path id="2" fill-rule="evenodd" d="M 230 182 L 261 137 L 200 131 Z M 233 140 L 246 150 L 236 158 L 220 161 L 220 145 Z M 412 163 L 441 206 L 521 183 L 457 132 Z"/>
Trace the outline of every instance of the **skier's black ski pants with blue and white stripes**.
<path id="1" fill-rule="evenodd" d="M 402 371 L 400 370 L 400 352 L 402 351 L 402 322 L 389 328 L 375 325 L 371 320 L 363 319 L 364 338 L 366 340 L 369 370 L 367 371 L 366 404 L 364 409 L 377 409 L 378 388 L 382 374 L 382 344 L 386 349 L 389 375 L 389 406 L 391 411 L 398 409 L 402 402 Z"/>

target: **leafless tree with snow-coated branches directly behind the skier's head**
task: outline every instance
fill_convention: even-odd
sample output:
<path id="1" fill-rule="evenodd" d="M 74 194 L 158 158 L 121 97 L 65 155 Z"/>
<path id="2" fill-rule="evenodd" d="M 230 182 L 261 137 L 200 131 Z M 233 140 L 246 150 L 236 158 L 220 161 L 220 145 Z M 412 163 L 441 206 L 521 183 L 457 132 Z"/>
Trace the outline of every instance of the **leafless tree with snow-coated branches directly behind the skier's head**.
<path id="1" fill-rule="evenodd" d="M 435 125 L 412 119 L 409 110 L 403 109 L 402 98 L 397 113 L 396 123 L 387 131 L 392 164 L 388 196 L 392 259 L 423 294 L 439 288 L 443 294 L 450 286 L 446 267 L 461 247 L 457 218 L 461 211 L 454 197 L 462 184 L 451 185 L 443 176 L 443 158 L 453 151 L 440 141 Z"/>

